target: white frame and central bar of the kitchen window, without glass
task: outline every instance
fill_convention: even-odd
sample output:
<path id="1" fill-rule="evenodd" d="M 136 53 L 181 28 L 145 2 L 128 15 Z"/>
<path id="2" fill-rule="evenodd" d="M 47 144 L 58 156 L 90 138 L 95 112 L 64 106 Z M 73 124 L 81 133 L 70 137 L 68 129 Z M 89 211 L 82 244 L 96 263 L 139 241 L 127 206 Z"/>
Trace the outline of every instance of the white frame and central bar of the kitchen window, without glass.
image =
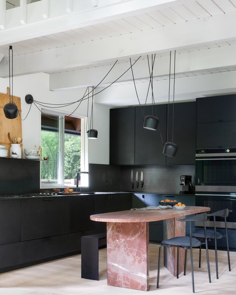
<path id="1" fill-rule="evenodd" d="M 42 113 L 45 113 L 46 115 L 52 115 L 52 116 L 68 116 L 71 114 L 71 112 L 67 111 L 55 111 L 52 109 L 47 108 L 40 108 Z M 86 131 L 86 123 L 88 118 L 86 116 L 78 115 L 73 113 L 71 117 L 74 118 L 80 118 L 81 119 L 81 171 L 89 171 L 89 159 L 88 159 L 88 137 L 87 131 Z M 42 128 L 42 120 L 40 115 L 40 145 L 41 145 L 41 128 Z M 60 147 L 59 147 L 59 175 L 58 179 L 60 180 L 60 183 L 53 183 L 53 182 L 42 182 L 41 181 L 41 162 L 40 162 L 40 188 L 59 188 L 59 187 L 66 187 L 64 184 L 64 118 L 59 120 L 59 141 L 60 141 Z M 60 150 L 61 149 L 61 150 Z M 82 179 L 81 179 L 82 180 Z M 81 185 L 83 187 L 89 186 L 89 178 L 85 177 L 83 178 L 83 181 Z M 71 187 L 76 187 L 76 185 L 71 185 Z"/>

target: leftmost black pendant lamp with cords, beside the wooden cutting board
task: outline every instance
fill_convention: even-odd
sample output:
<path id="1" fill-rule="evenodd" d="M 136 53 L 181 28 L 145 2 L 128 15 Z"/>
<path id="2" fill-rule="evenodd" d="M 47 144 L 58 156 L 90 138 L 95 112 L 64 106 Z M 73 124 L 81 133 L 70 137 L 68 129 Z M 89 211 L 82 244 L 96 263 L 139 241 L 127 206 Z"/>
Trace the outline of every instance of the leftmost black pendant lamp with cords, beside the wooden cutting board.
<path id="1" fill-rule="evenodd" d="M 11 55 L 10 55 L 11 52 Z M 11 66 L 10 66 L 10 56 L 11 56 Z M 12 46 L 9 46 L 8 50 L 9 57 L 9 103 L 5 104 L 3 107 L 4 115 L 8 119 L 15 119 L 18 116 L 17 105 L 13 102 L 13 50 Z"/>

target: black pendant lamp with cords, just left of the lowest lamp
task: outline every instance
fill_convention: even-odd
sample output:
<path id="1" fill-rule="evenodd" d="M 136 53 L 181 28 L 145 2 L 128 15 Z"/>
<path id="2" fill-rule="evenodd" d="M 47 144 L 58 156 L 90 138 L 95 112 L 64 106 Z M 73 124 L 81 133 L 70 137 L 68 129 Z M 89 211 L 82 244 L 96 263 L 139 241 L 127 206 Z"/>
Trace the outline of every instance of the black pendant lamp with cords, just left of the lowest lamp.
<path id="1" fill-rule="evenodd" d="M 152 59 L 152 55 L 151 55 Z M 150 66 L 149 66 L 149 60 L 148 60 L 148 68 L 149 68 L 149 75 L 150 75 L 150 83 L 151 83 L 151 109 L 153 113 L 153 105 L 155 106 L 155 101 L 154 101 L 154 95 L 153 95 L 153 66 L 154 66 L 154 61 L 155 61 L 155 56 L 154 59 L 151 61 L 151 72 L 150 72 Z M 153 114 L 151 116 L 146 116 L 144 118 L 144 128 L 149 129 L 149 130 L 157 130 L 159 124 L 159 119 Z"/>

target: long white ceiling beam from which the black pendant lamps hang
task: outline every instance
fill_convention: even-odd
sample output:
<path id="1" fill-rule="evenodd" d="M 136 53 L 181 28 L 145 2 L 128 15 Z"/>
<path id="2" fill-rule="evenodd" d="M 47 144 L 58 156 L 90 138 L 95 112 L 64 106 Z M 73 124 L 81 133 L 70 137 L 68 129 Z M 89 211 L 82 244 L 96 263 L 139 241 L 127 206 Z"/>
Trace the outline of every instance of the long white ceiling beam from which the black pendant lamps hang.
<path id="1" fill-rule="evenodd" d="M 25 26 L 24 26 L 25 27 Z M 57 71 L 83 65 L 166 52 L 197 44 L 235 39 L 236 12 L 71 46 L 14 57 L 14 74 Z M 205 32 L 204 34 L 202 32 Z M 191 32 L 191 34 L 189 33 Z M 211 57 L 210 57 L 211 59 Z M 195 60 L 190 60 L 190 64 Z M 214 65 L 212 66 L 214 67 Z M 8 61 L 1 61 L 0 77 L 7 77 Z"/>

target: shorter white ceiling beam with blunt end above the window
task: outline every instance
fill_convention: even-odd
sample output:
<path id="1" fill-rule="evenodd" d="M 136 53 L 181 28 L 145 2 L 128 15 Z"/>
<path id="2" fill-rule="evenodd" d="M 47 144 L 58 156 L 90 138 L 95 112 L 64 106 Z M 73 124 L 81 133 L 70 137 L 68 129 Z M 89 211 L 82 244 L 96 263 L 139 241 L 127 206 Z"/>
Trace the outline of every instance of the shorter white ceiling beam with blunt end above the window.
<path id="1" fill-rule="evenodd" d="M 201 51 L 193 51 L 177 54 L 176 74 L 196 72 L 213 68 L 229 67 L 236 65 L 236 45 L 211 48 Z M 173 54 L 173 51 L 172 51 Z M 153 77 L 168 76 L 169 55 L 156 57 Z M 151 58 L 149 56 L 149 62 Z M 132 63 L 135 59 L 131 59 Z M 172 59 L 172 64 L 174 60 Z M 93 68 L 67 71 L 50 74 L 50 90 L 73 89 L 79 87 L 96 86 L 105 77 L 112 65 L 97 66 Z M 111 84 L 130 67 L 129 62 L 117 63 L 103 84 Z M 146 57 L 139 59 L 133 66 L 134 79 L 142 80 L 149 78 L 148 60 Z M 172 67 L 173 73 L 173 67 Z M 88 79 L 89 77 L 89 79 Z M 132 81 L 132 72 L 129 70 L 118 82 Z"/>

